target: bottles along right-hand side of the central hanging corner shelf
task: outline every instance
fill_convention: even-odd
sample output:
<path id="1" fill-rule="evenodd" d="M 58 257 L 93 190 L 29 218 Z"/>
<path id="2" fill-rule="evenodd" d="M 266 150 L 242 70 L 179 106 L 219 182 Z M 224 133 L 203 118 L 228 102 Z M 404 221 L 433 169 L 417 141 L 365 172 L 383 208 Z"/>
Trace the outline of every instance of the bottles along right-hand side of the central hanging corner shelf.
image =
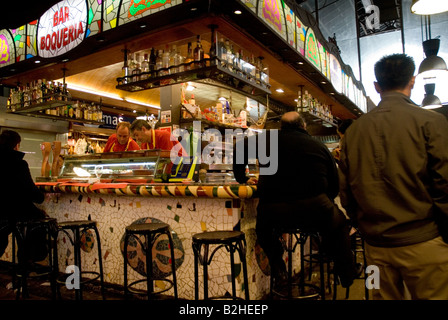
<path id="1" fill-rule="evenodd" d="M 224 38 L 218 42 L 217 56 L 221 66 L 237 75 L 258 84 L 269 84 L 269 68 L 263 65 L 263 57 L 246 55 L 243 49 L 234 50 L 233 43 Z"/>

